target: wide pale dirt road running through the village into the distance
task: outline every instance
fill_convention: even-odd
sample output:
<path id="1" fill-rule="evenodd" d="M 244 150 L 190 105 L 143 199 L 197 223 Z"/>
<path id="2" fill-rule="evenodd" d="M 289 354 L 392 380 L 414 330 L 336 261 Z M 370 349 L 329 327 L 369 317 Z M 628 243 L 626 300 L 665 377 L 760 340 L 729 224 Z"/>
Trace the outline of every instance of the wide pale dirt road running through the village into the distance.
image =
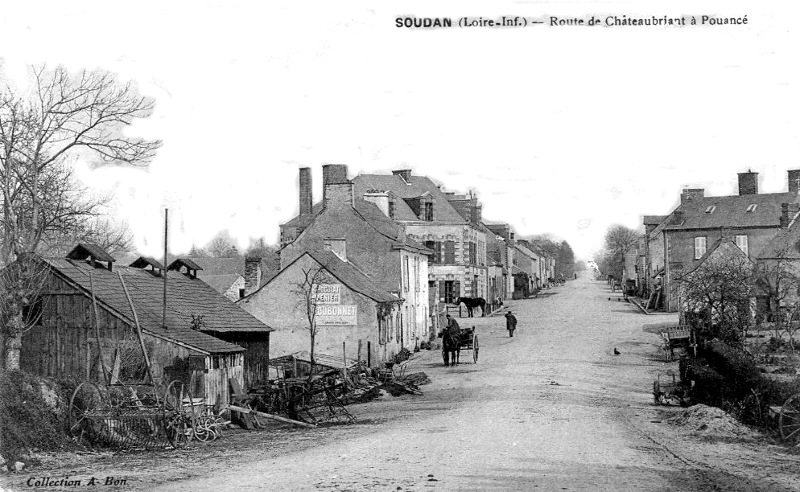
<path id="1" fill-rule="evenodd" d="M 502 316 L 459 320 L 476 326 L 479 363 L 444 368 L 439 353 L 424 352 L 409 368 L 433 380 L 424 396 L 353 406 L 354 426 L 226 436 L 222 451 L 70 471 L 164 491 L 800 489 L 797 454 L 666 423 L 681 409 L 652 403 L 667 364 L 647 325 L 676 320 L 611 296 L 602 282 L 579 279 L 513 301 L 514 338 Z"/>

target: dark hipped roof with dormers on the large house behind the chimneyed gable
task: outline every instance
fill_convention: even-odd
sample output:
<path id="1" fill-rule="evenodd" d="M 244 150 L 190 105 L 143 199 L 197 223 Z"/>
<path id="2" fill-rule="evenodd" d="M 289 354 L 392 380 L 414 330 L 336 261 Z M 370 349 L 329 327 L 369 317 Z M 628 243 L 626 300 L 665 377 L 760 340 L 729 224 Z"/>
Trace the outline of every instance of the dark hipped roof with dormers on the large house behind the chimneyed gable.
<path id="1" fill-rule="evenodd" d="M 395 200 L 394 217 L 398 221 L 418 221 L 419 217 L 405 202 L 405 198 L 416 198 L 430 193 L 433 196 L 433 218 L 436 222 L 465 224 L 467 221 L 447 200 L 447 196 L 436 184 L 425 176 L 411 176 L 411 182 L 394 174 L 359 174 L 353 178 L 356 196 L 368 190 L 390 191 L 400 200 Z"/>

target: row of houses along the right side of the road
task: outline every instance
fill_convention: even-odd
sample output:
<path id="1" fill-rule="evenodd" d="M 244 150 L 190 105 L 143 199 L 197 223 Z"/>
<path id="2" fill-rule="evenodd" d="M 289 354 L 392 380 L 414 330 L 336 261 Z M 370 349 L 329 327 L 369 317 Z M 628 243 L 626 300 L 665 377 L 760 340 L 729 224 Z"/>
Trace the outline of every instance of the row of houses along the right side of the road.
<path id="1" fill-rule="evenodd" d="M 666 311 L 680 310 L 678 282 L 717 248 L 733 244 L 754 262 L 800 258 L 800 170 L 787 172 L 787 191 L 759 193 L 758 173 L 738 174 L 738 194 L 706 196 L 684 189 L 667 215 L 645 215 L 645 234 L 625 258 L 624 280 L 643 297 L 660 299 Z M 762 309 L 775 306 L 761 296 Z"/>

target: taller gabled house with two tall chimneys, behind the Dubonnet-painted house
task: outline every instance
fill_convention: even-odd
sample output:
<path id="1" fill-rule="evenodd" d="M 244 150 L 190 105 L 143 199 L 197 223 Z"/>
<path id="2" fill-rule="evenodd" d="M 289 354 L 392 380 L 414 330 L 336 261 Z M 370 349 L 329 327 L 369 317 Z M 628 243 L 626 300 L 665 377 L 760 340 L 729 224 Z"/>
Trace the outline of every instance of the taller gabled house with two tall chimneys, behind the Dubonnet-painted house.
<path id="1" fill-rule="evenodd" d="M 300 170 L 300 215 L 281 226 L 281 268 L 307 251 L 332 251 L 383 291 L 403 300 L 403 346 L 435 336 L 431 326 L 428 257 L 433 252 L 406 234 L 375 203 L 354 193 L 347 166 L 323 166 L 323 201 L 310 202 L 311 178 Z"/>

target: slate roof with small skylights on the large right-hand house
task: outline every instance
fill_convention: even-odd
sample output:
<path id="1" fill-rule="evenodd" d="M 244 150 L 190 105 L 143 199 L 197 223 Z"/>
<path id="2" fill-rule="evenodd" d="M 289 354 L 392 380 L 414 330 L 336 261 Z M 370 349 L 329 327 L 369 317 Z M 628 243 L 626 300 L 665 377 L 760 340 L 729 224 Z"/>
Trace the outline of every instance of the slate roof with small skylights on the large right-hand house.
<path id="1" fill-rule="evenodd" d="M 693 197 L 675 211 L 682 213 L 680 224 L 668 224 L 666 230 L 719 229 L 726 227 L 778 227 L 781 204 L 798 203 L 797 193 L 763 193 L 717 197 Z M 750 209 L 751 211 L 747 211 Z"/>

